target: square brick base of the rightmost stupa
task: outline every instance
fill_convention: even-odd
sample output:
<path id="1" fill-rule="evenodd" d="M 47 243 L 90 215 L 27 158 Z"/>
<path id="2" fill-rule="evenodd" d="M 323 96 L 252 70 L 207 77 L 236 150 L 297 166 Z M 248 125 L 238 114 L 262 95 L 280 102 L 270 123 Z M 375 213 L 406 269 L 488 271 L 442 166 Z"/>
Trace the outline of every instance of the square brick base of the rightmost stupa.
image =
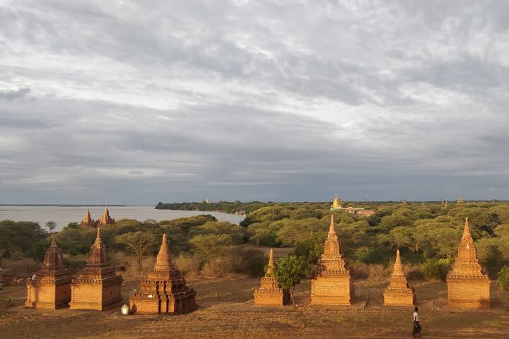
<path id="1" fill-rule="evenodd" d="M 447 307 L 489 309 L 490 306 L 490 281 L 488 278 L 447 279 Z"/>

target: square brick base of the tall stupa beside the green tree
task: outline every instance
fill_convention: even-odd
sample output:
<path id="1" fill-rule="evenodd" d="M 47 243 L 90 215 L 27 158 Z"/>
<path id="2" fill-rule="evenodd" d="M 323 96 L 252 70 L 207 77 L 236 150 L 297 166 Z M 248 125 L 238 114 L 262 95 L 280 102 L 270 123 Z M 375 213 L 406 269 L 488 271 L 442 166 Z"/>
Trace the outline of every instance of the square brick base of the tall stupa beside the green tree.
<path id="1" fill-rule="evenodd" d="M 317 276 L 311 282 L 311 304 L 351 305 L 352 292 L 349 274 Z"/>

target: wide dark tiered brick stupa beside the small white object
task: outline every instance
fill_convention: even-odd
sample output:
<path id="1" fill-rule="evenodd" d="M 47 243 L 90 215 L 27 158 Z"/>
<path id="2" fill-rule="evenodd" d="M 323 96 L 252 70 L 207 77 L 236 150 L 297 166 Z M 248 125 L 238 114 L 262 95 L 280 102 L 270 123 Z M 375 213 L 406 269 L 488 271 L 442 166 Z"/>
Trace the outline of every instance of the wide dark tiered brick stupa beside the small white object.
<path id="1" fill-rule="evenodd" d="M 137 314 L 182 314 L 197 308 L 196 292 L 186 286 L 185 278 L 173 265 L 166 234 L 163 234 L 156 266 L 141 280 L 131 297 L 131 311 Z"/>

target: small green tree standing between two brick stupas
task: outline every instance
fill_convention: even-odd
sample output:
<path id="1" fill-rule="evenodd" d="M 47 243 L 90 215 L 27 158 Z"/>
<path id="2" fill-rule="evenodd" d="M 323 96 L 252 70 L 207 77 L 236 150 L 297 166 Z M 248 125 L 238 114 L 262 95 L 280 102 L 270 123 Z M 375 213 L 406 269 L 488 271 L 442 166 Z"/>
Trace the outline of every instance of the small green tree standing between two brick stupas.
<path id="1" fill-rule="evenodd" d="M 274 275 L 278 285 L 283 290 L 290 292 L 293 308 L 295 309 L 296 303 L 293 298 L 293 292 L 295 292 L 295 287 L 300 283 L 301 278 L 310 276 L 311 266 L 303 256 L 288 256 L 286 259 L 279 259 L 276 263 Z"/>

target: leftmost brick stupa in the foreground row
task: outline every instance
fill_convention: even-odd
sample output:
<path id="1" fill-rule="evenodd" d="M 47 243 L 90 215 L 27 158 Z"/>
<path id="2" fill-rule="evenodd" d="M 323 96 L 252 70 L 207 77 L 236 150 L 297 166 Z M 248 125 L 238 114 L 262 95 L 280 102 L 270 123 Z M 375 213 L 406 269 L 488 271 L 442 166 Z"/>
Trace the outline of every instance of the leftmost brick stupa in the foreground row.
<path id="1" fill-rule="evenodd" d="M 35 273 L 35 280 L 28 280 L 25 307 L 58 309 L 71 301 L 71 273 L 64 266 L 62 252 L 52 239 L 47 249 L 42 270 Z"/>

